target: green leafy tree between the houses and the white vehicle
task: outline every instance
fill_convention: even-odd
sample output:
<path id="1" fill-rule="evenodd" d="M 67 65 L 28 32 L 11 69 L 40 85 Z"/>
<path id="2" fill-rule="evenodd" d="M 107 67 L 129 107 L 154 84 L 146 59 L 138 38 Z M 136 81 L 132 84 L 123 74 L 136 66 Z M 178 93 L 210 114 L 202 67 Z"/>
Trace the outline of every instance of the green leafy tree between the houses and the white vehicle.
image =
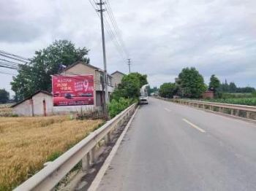
<path id="1" fill-rule="evenodd" d="M 111 95 L 111 99 L 138 98 L 140 87 L 148 83 L 147 76 L 138 72 L 125 75 L 116 90 Z"/>

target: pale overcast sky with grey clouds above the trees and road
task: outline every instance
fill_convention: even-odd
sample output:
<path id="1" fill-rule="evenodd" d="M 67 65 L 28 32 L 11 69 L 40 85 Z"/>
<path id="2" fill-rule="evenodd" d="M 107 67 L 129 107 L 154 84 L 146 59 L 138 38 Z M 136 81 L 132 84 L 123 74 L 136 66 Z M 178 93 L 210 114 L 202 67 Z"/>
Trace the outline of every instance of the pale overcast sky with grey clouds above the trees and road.
<path id="1" fill-rule="evenodd" d="M 216 74 L 222 82 L 256 87 L 255 0 L 108 1 L 132 71 L 147 74 L 151 86 L 195 66 L 206 83 Z M 127 73 L 127 61 L 106 37 L 108 71 Z M 0 50 L 31 58 L 55 39 L 87 47 L 91 64 L 103 68 L 99 17 L 89 0 L 0 1 Z M 0 78 L 0 88 L 10 90 L 12 76 Z"/>

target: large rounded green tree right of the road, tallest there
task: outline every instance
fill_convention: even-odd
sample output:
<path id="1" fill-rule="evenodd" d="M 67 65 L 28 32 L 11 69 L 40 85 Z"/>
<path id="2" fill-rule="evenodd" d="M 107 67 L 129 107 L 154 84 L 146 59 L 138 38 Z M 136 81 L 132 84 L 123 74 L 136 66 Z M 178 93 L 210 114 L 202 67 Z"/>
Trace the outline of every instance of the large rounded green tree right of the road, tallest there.
<path id="1" fill-rule="evenodd" d="M 181 95 L 187 98 L 200 98 L 202 93 L 206 91 L 203 76 L 193 67 L 182 69 L 181 73 L 178 74 L 178 82 Z"/>

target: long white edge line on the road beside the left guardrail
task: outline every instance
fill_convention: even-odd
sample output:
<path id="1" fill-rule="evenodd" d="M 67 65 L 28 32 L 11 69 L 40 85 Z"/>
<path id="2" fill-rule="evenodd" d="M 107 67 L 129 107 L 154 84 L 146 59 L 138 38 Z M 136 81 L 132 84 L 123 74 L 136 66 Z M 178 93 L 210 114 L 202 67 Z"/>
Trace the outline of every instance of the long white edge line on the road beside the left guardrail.
<path id="1" fill-rule="evenodd" d="M 105 162 L 103 163 L 102 167 L 100 168 L 97 176 L 94 178 L 94 181 L 91 182 L 91 186 L 89 187 L 89 191 L 95 191 L 99 187 L 100 182 L 103 179 L 103 176 L 105 175 L 105 172 L 108 170 L 108 166 L 110 165 L 111 161 L 113 160 L 113 157 L 116 155 L 117 149 L 121 144 L 121 141 L 124 139 L 124 135 L 127 133 L 127 130 L 129 126 L 132 123 L 133 118 L 135 117 L 135 114 L 137 113 L 138 108 L 135 110 L 134 114 L 132 115 L 131 119 L 127 123 L 127 126 L 124 128 L 123 133 L 121 133 L 121 136 L 119 136 L 118 140 L 116 141 L 116 144 L 114 145 L 113 149 L 111 150 L 110 154 L 106 158 Z"/>

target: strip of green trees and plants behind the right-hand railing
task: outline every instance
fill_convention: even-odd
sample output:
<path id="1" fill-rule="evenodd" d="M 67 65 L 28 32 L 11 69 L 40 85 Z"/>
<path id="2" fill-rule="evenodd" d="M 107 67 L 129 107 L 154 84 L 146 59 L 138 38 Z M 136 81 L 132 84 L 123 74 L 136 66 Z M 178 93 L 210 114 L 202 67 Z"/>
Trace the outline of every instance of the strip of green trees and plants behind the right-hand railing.
<path id="1" fill-rule="evenodd" d="M 203 93 L 213 92 L 214 98 L 203 98 Z M 162 98 L 189 98 L 201 101 L 212 101 L 225 104 L 241 104 L 256 106 L 256 90 L 254 87 L 237 87 L 235 82 L 221 83 L 215 74 L 211 75 L 206 85 L 203 76 L 195 68 L 182 69 L 176 82 L 163 83 L 159 88 Z"/>

